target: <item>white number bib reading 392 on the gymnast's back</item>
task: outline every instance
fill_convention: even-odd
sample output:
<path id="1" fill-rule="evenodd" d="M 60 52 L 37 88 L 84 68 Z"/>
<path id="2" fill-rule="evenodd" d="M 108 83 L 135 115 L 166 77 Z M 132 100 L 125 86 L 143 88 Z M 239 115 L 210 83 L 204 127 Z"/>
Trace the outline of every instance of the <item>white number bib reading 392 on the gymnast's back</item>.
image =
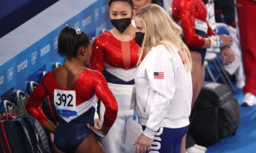
<path id="1" fill-rule="evenodd" d="M 76 91 L 54 90 L 54 105 L 60 116 L 65 118 L 77 116 L 76 113 Z"/>

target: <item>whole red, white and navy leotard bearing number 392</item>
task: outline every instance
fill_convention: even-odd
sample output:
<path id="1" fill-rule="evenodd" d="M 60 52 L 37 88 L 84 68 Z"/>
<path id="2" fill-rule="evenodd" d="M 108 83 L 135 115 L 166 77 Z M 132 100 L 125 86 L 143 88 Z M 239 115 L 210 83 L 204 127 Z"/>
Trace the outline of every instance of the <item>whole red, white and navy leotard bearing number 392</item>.
<path id="1" fill-rule="evenodd" d="M 55 144 L 64 152 L 74 152 L 92 133 L 86 124 L 94 124 L 94 97 L 97 96 L 101 99 L 106 107 L 104 126 L 107 127 L 111 127 L 115 122 L 117 102 L 109 90 L 106 80 L 98 71 L 84 69 L 70 88 L 61 88 L 55 80 L 54 72 L 55 70 L 50 71 L 44 76 L 29 97 L 26 109 L 31 116 L 44 124 L 48 118 L 42 111 L 41 103 L 47 95 L 54 99 L 60 116 L 59 125 L 55 130 Z M 63 112 L 63 110 L 65 111 Z"/>

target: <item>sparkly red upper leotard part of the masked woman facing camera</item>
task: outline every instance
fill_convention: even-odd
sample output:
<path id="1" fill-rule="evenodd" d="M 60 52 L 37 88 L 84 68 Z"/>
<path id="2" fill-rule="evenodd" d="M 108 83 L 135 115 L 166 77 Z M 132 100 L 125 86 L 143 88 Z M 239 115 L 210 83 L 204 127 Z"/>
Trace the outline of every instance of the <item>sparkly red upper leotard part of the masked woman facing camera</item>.
<path id="1" fill-rule="evenodd" d="M 130 48 L 127 48 L 127 43 L 130 44 Z M 106 33 L 102 33 L 98 36 L 94 41 L 90 63 L 91 69 L 95 69 L 102 73 L 104 69 L 104 62 L 111 67 L 132 69 L 133 67 L 137 67 L 137 61 L 139 58 L 138 53 L 139 46 L 136 44 L 135 39 L 122 42 L 115 38 L 111 32 L 107 31 Z M 126 57 L 123 57 L 123 55 L 126 55 Z M 127 55 L 130 57 L 127 57 Z M 129 63 L 127 60 L 130 60 L 129 65 L 127 64 Z"/>

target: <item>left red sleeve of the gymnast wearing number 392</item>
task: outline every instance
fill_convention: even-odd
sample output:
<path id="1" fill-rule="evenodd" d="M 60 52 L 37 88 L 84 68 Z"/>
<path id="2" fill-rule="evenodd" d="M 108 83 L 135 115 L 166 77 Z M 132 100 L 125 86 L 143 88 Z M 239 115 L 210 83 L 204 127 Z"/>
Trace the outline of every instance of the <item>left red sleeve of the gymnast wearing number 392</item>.
<path id="1" fill-rule="evenodd" d="M 26 104 L 26 109 L 29 115 L 38 119 L 38 121 L 42 125 L 48 121 L 48 118 L 46 118 L 41 107 L 41 103 L 44 101 L 45 97 L 47 96 L 46 88 L 44 87 L 44 80 L 46 76 L 42 79 L 40 84 L 36 86 L 35 90 L 33 90 Z"/>

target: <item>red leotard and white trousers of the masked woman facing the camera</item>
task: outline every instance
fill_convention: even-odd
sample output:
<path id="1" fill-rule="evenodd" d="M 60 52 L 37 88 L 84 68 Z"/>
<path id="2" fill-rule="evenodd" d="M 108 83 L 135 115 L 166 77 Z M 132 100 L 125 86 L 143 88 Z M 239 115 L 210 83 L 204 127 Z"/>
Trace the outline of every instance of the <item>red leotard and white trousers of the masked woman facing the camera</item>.
<path id="1" fill-rule="evenodd" d="M 135 39 L 120 41 L 110 31 L 94 41 L 91 68 L 103 73 L 118 103 L 117 120 L 101 141 L 106 152 L 134 153 L 136 146 L 132 143 L 142 132 L 141 125 L 132 119 L 134 108 L 131 107 L 139 50 Z M 100 118 L 103 110 L 100 105 Z"/>

